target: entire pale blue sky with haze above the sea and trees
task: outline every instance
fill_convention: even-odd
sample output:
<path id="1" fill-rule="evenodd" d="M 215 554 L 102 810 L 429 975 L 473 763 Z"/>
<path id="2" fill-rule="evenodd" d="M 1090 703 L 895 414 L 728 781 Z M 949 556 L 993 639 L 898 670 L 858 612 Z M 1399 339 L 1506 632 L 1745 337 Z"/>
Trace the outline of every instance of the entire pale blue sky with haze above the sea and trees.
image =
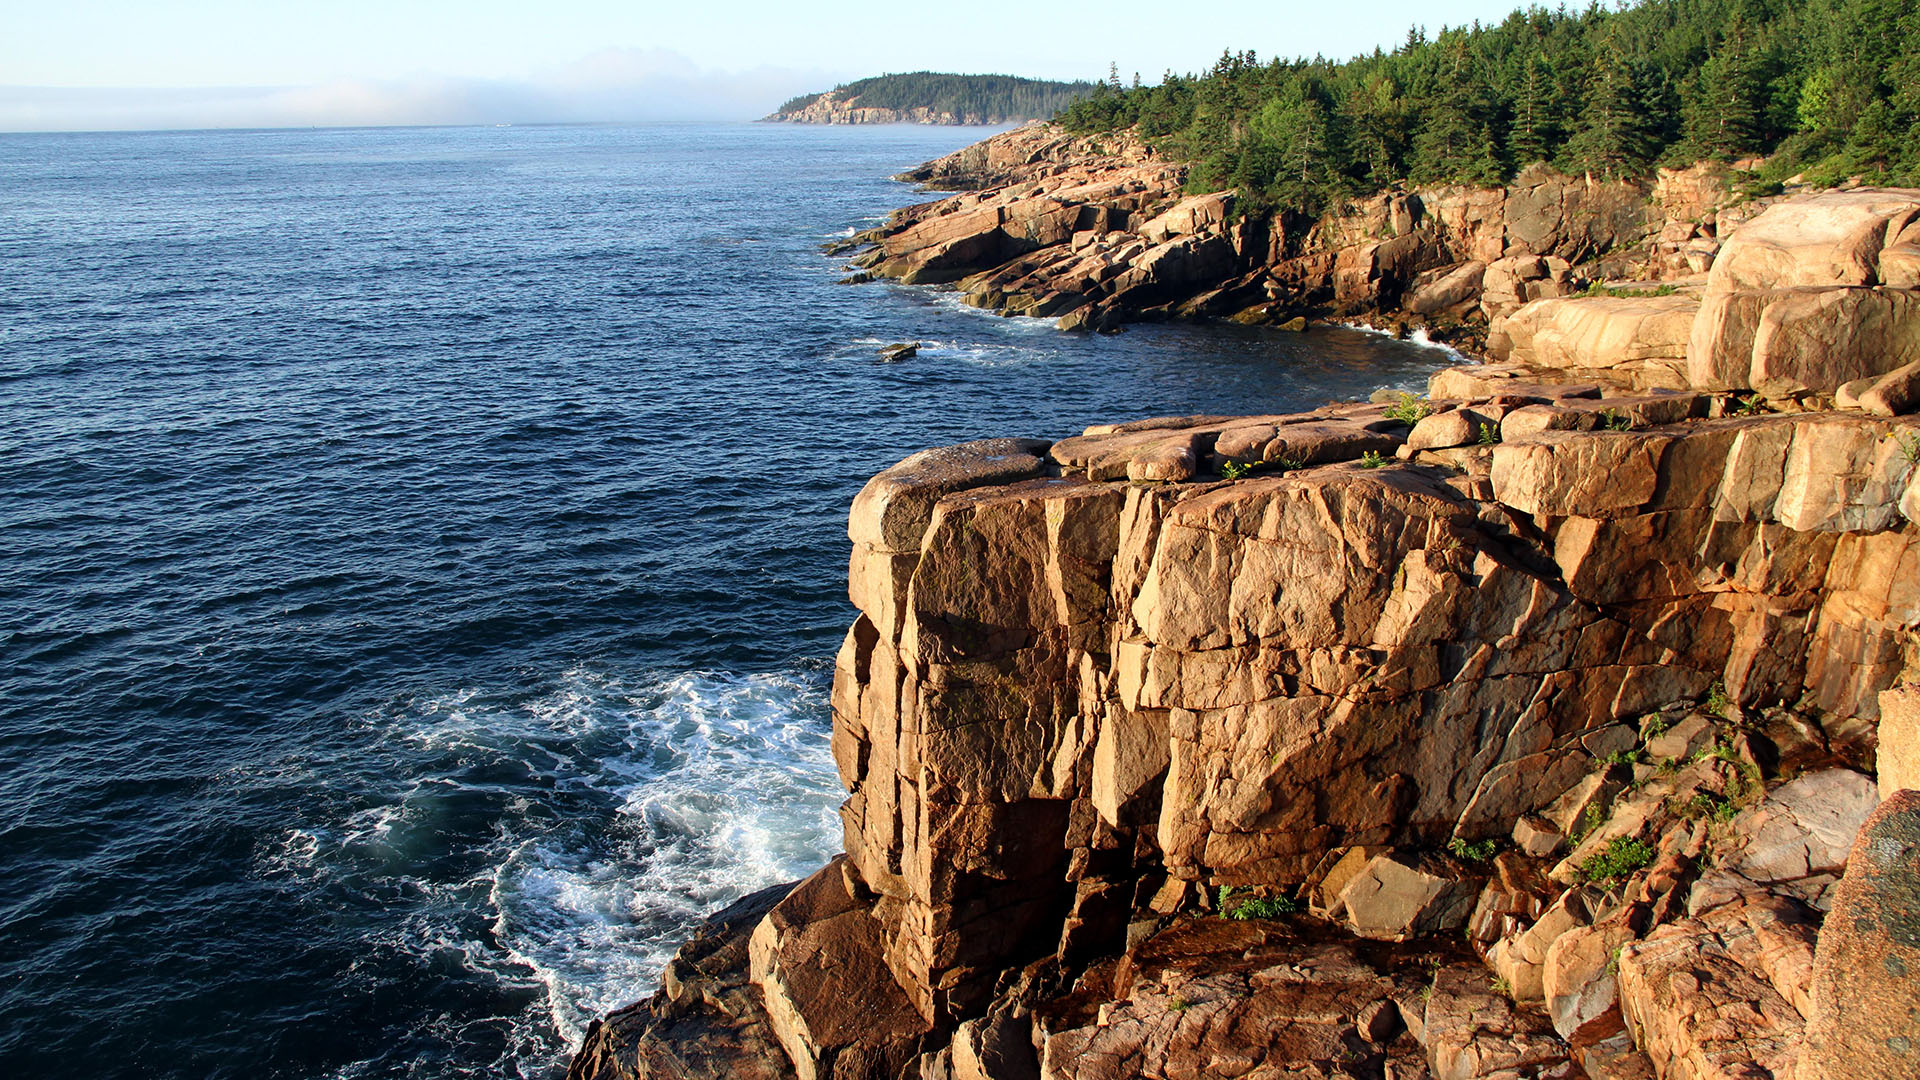
<path id="1" fill-rule="evenodd" d="M 1154 83 L 1225 48 L 1346 58 L 1517 6 L 0 0 L 0 131 L 753 119 L 885 71 Z"/>

